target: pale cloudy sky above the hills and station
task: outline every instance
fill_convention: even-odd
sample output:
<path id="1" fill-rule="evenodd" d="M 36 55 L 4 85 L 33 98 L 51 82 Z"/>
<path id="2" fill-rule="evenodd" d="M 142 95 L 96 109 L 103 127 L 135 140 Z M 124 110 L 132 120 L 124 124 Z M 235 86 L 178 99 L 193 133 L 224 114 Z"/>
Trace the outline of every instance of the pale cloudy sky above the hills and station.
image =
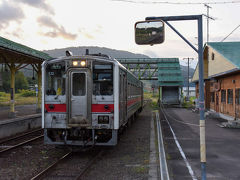
<path id="1" fill-rule="evenodd" d="M 165 42 L 149 46 L 135 44 L 134 24 L 148 16 L 207 14 L 202 3 L 209 3 L 209 16 L 214 18 L 209 20 L 210 42 L 223 40 L 240 25 L 240 0 L 0 0 L 0 36 L 37 50 L 99 46 L 151 58 L 179 58 L 182 65 L 189 57 L 195 59 L 194 67 L 197 53 L 167 25 Z M 197 21 L 170 23 L 197 47 Z M 204 42 L 206 24 L 204 16 Z M 240 27 L 225 41 L 240 41 Z"/>

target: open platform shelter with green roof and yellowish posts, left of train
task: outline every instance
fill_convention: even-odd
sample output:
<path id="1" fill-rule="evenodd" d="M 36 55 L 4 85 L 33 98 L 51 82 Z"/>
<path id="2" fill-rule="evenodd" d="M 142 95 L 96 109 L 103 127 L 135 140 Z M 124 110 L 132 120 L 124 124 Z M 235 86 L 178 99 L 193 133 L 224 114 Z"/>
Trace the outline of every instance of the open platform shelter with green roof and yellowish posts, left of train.
<path id="1" fill-rule="evenodd" d="M 9 117 L 15 117 L 15 74 L 16 72 L 31 65 L 38 76 L 38 103 L 37 111 L 41 109 L 41 64 L 44 60 L 51 59 L 51 57 L 41 51 L 32 49 L 22 44 L 10 41 L 0 37 L 0 63 L 5 64 L 11 72 L 10 84 L 10 112 Z"/>

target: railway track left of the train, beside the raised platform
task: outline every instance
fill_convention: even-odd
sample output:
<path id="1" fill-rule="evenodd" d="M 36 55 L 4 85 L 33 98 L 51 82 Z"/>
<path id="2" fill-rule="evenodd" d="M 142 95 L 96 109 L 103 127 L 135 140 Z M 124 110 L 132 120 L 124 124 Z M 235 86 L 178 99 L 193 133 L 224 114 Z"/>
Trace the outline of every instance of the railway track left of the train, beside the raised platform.
<path id="1" fill-rule="evenodd" d="M 15 148 L 18 148 L 20 146 L 23 146 L 25 144 L 38 140 L 40 138 L 43 138 L 42 129 L 37 129 L 34 131 L 26 132 L 24 134 L 20 134 L 15 137 L 4 139 L 0 141 L 0 147 L 1 147 L 0 154 L 13 150 Z"/>

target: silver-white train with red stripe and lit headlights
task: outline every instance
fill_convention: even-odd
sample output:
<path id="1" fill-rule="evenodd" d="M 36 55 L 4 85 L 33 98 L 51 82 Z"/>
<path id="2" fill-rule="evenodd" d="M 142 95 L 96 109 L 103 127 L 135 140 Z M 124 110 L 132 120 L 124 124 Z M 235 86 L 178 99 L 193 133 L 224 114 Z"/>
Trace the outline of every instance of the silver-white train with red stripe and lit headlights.
<path id="1" fill-rule="evenodd" d="M 44 142 L 116 145 L 143 108 L 143 83 L 106 55 L 66 54 L 42 64 Z"/>

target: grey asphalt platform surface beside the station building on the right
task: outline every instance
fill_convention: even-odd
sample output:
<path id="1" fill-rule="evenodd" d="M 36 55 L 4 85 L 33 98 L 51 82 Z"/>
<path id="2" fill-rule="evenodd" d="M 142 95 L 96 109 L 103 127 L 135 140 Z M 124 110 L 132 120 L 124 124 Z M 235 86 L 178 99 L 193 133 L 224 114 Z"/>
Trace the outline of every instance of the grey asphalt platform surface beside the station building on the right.
<path id="1" fill-rule="evenodd" d="M 183 108 L 165 109 L 167 119 L 193 170 L 201 179 L 199 114 Z M 206 172 L 208 180 L 240 179 L 240 129 L 221 128 L 222 119 L 206 119 Z M 169 126 L 162 120 L 164 141 L 171 178 L 174 180 L 194 179 L 189 175 L 186 163 L 176 146 Z"/>

